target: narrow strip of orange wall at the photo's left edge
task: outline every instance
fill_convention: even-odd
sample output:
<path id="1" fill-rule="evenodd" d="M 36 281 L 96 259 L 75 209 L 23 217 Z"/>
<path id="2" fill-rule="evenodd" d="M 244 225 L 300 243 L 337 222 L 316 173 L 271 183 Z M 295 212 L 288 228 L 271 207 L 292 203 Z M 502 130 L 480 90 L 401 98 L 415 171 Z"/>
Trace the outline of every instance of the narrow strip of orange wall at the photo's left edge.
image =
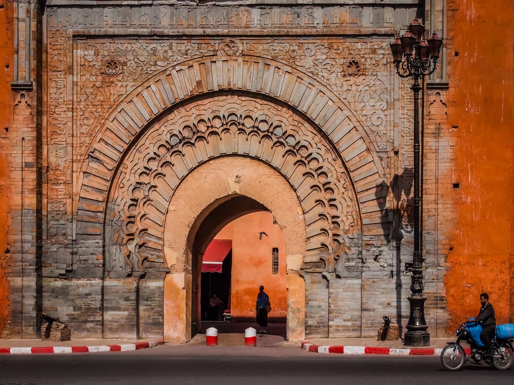
<path id="1" fill-rule="evenodd" d="M 7 230 L 9 226 L 9 164 L 5 154 L 9 151 L 7 145 L 8 127 L 12 122 L 12 100 L 9 82 L 12 80 L 13 68 L 13 8 L 12 1 L 2 0 L 0 5 L 0 338 L 8 333 L 10 306 L 8 300 L 8 284 L 6 269 L 9 266 L 7 246 Z"/>

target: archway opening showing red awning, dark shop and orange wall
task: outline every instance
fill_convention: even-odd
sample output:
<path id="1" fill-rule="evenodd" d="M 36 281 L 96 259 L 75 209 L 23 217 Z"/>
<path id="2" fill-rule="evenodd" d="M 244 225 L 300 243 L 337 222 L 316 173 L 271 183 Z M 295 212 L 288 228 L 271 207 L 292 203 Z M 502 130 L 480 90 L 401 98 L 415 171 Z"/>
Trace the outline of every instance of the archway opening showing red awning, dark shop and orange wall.
<path id="1" fill-rule="evenodd" d="M 209 243 L 201 260 L 201 329 L 243 333 L 255 322 L 255 299 L 265 286 L 272 305 L 268 315 L 274 334 L 286 335 L 287 290 L 285 243 L 269 211 L 256 211 L 225 225 Z M 223 301 L 216 309 L 217 295 Z"/>

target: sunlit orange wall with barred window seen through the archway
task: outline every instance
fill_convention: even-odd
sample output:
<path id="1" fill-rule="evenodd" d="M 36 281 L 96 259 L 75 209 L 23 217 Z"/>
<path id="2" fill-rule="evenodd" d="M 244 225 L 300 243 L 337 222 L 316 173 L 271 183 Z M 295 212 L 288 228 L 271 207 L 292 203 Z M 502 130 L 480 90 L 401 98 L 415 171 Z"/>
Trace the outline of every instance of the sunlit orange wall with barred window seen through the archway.
<path id="1" fill-rule="evenodd" d="M 269 236 L 259 239 L 260 232 Z M 285 244 L 279 225 L 270 213 L 260 212 L 238 218 L 219 232 L 215 239 L 232 239 L 231 315 L 255 317 L 259 286 L 270 297 L 270 318 L 287 316 Z M 272 274 L 271 253 L 279 249 L 279 274 Z"/>

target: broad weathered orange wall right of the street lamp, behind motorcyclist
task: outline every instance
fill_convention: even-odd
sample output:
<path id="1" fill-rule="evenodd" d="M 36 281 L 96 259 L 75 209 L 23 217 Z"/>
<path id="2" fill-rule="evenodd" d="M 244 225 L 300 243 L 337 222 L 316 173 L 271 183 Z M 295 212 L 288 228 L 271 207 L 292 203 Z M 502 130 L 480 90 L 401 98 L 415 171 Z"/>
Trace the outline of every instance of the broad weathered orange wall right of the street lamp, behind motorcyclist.
<path id="1" fill-rule="evenodd" d="M 493 4 L 494 3 L 494 4 Z M 457 226 L 445 277 L 449 330 L 488 292 L 497 322 L 512 321 L 512 0 L 448 1 L 449 122 L 455 128 Z M 509 279 L 510 278 L 510 279 Z"/>

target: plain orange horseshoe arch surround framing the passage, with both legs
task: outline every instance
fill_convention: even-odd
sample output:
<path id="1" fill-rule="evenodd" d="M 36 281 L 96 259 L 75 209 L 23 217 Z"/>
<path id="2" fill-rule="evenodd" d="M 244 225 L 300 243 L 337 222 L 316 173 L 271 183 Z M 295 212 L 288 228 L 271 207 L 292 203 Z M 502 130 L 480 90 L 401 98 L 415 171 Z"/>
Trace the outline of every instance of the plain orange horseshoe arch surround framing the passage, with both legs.
<path id="1" fill-rule="evenodd" d="M 201 180 L 205 189 L 198 188 Z M 178 210 L 175 202 L 189 200 L 196 210 Z M 262 203 L 261 203 L 262 202 Z M 299 271 L 305 251 L 305 224 L 295 192 L 287 181 L 264 163 L 244 157 L 224 157 L 193 170 L 173 196 L 166 219 L 164 249 L 170 271 L 164 283 L 164 337 L 184 342 L 190 325 L 199 325 L 198 276 L 201 256 L 210 240 L 227 223 L 256 211 L 270 211 L 285 243 L 287 336 L 303 338 L 305 288 Z M 189 234 L 188 237 L 181 235 Z M 191 294 L 190 294 L 191 293 Z M 191 314 L 185 319 L 183 314 Z M 185 338 L 185 340 L 184 340 Z"/>

